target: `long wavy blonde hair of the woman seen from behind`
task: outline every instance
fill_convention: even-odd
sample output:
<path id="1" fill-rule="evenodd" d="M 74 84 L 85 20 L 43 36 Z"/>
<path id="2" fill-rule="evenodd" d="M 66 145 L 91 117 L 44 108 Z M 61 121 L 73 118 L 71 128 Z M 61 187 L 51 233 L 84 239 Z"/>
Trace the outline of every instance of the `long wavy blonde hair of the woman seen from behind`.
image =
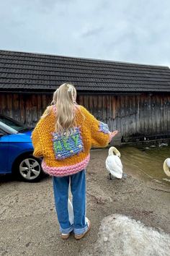
<path id="1" fill-rule="evenodd" d="M 76 88 L 71 84 L 64 83 L 53 93 L 51 104 L 56 106 L 55 132 L 59 132 L 61 135 L 66 132 L 66 135 L 69 135 L 73 127 L 76 126 Z M 48 106 L 42 118 L 48 116 L 51 109 Z"/>

